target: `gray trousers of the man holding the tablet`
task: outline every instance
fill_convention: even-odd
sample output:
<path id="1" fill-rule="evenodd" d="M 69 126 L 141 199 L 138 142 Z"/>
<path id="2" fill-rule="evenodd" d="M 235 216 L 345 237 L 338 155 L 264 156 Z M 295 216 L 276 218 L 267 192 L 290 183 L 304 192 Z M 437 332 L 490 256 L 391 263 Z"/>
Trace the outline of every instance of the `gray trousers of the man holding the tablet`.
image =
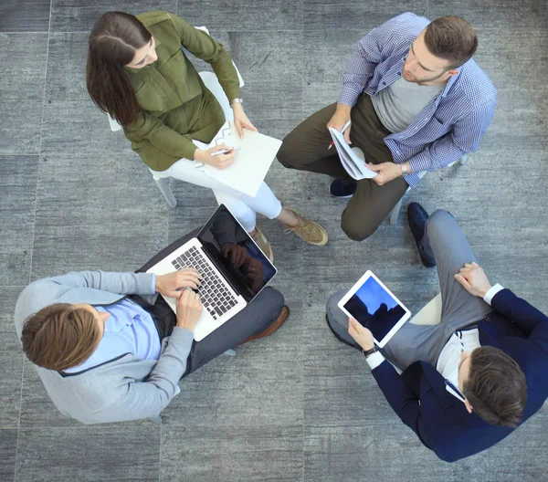
<path id="1" fill-rule="evenodd" d="M 442 299 L 441 322 L 438 325 L 407 322 L 388 341 L 383 353 L 402 370 L 418 360 L 436 366 L 439 353 L 451 335 L 481 320 L 492 310 L 483 299 L 470 295 L 454 278 L 465 263 L 477 260 L 448 211 L 437 210 L 428 218 L 422 245 L 425 252 L 436 259 Z M 348 317 L 337 307 L 345 293 L 345 290 L 339 291 L 327 301 L 327 319 L 342 340 L 359 348 L 348 334 Z"/>

